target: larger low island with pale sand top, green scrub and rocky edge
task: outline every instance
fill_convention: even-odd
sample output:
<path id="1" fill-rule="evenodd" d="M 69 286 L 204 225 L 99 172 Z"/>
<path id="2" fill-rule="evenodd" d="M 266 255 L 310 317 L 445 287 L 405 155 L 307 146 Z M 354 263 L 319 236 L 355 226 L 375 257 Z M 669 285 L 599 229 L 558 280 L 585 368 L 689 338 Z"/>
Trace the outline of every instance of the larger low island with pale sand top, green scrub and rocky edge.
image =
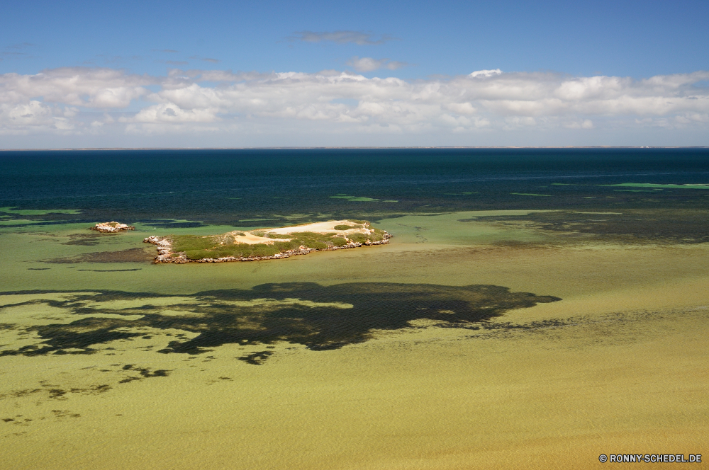
<path id="1" fill-rule="evenodd" d="M 383 245 L 390 238 L 389 233 L 365 220 L 348 219 L 220 235 L 149 236 L 143 241 L 157 246 L 155 263 L 226 263 Z"/>

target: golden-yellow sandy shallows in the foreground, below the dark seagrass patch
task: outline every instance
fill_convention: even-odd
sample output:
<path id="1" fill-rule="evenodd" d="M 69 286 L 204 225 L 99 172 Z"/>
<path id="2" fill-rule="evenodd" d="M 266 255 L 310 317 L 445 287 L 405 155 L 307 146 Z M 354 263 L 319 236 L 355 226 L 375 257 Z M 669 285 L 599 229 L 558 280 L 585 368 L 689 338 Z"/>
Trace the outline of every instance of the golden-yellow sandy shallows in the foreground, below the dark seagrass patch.
<path id="1" fill-rule="evenodd" d="M 701 453 L 702 318 L 629 316 L 486 339 L 431 328 L 325 352 L 280 345 L 259 367 L 234 357 L 262 346 L 225 345 L 205 362 L 156 357 L 137 348 L 154 340 L 140 338 L 114 343 L 111 356 L 43 357 L 43 367 L 6 357 L 14 373 L 1 416 L 14 421 L 0 425 L 13 452 L 0 466 L 594 469 L 610 452 Z M 118 384 L 138 376 L 125 364 L 171 372 Z M 67 390 L 61 400 L 30 393 L 47 380 Z M 27 398 L 10 395 L 28 384 L 38 386 Z M 83 392 L 94 384 L 113 388 Z"/>

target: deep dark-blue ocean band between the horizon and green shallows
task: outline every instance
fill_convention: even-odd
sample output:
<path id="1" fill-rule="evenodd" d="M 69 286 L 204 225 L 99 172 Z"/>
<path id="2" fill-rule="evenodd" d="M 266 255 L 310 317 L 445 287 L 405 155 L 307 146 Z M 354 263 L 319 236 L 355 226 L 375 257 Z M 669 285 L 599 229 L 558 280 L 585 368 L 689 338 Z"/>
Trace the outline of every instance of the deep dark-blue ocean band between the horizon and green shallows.
<path id="1" fill-rule="evenodd" d="M 709 149 L 0 152 L 0 207 L 80 211 L 52 214 L 53 223 L 248 227 L 285 223 L 288 214 L 306 222 L 323 214 L 709 205 L 709 190 L 608 186 L 623 183 L 707 184 Z"/>

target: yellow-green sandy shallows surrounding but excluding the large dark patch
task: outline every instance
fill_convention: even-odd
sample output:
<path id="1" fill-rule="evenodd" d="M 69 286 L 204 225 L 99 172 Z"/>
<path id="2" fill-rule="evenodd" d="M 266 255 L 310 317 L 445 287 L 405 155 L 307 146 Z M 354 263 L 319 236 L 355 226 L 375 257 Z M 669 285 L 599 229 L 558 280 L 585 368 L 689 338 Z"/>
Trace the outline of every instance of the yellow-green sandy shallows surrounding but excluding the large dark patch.
<path id="1" fill-rule="evenodd" d="M 705 453 L 706 243 L 564 245 L 457 222 L 467 217 L 384 219 L 376 227 L 395 235 L 388 246 L 228 265 L 35 262 L 128 249 L 145 236 L 140 227 L 92 248 L 35 232 L 30 251 L 27 234 L 6 235 L 6 292 L 398 282 L 499 285 L 562 300 L 508 310 L 478 330 L 420 321 L 335 350 L 277 343 L 257 364 L 235 358 L 264 345 L 159 354 L 166 335 L 179 334 L 168 330 L 91 355 L 0 356 L 0 467 L 576 469 L 608 465 L 599 454 Z M 510 239 L 518 243 L 499 243 Z M 27 303 L 62 294 L 22 295 L 2 296 L 1 323 L 68 321 L 48 302 Z M 173 307 L 155 308 L 167 316 Z M 32 340 L 0 331 L 3 350 Z"/>

